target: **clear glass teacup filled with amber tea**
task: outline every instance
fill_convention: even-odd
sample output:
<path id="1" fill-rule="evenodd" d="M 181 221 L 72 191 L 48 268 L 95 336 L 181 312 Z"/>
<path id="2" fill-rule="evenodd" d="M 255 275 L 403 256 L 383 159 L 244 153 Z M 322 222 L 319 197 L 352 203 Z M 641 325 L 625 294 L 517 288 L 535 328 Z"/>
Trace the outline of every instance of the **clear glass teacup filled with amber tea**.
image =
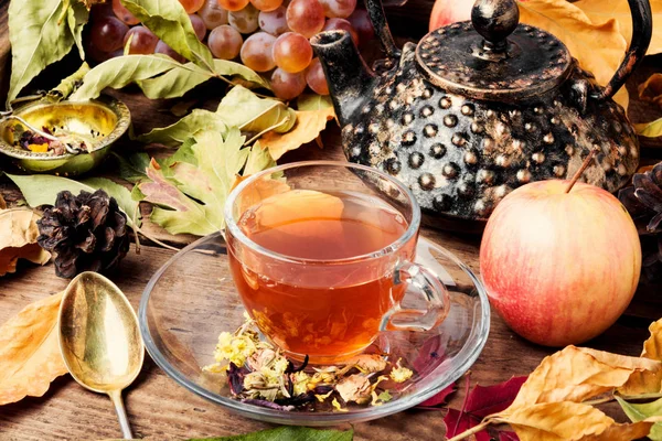
<path id="1" fill-rule="evenodd" d="M 382 331 L 429 330 L 448 291 L 414 263 L 420 209 L 395 179 L 310 161 L 252 175 L 227 197 L 226 240 L 248 314 L 295 359 L 335 364 Z M 423 305 L 404 308 L 416 297 Z"/>

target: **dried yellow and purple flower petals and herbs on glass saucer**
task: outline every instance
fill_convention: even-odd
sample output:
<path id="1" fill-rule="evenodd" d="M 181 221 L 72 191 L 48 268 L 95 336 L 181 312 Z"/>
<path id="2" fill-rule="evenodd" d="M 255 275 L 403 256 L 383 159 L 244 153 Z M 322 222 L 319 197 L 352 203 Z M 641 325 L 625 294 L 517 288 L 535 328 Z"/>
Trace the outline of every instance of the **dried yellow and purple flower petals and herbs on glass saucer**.
<path id="1" fill-rule="evenodd" d="M 324 367 L 309 367 L 306 357 L 296 365 L 279 348 L 260 341 L 255 321 L 245 316 L 234 333 L 221 333 L 216 363 L 203 368 L 226 374 L 233 397 L 244 402 L 288 411 L 380 406 L 393 399 L 388 386 L 407 381 L 414 374 L 401 359 L 391 363 L 377 354 Z"/>

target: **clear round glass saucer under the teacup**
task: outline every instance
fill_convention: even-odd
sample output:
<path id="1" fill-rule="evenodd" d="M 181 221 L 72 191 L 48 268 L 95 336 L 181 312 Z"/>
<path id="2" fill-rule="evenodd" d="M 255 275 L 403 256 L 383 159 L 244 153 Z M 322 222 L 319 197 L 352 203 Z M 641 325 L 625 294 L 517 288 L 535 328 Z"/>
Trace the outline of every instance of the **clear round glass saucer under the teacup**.
<path id="1" fill-rule="evenodd" d="M 381 406 L 348 411 L 284 411 L 232 398 L 224 376 L 202 370 L 214 363 L 222 331 L 244 322 L 244 308 L 229 273 L 225 243 L 212 234 L 173 256 L 151 278 L 140 301 L 140 331 L 147 351 L 170 377 L 190 391 L 237 413 L 280 424 L 334 426 L 382 418 L 433 397 L 465 374 L 482 351 L 490 306 L 479 279 L 446 249 L 420 238 L 416 261 L 436 272 L 450 292 L 448 318 L 426 332 L 384 332 L 375 344 L 414 376 Z M 412 295 L 414 297 L 414 295 Z M 415 306 L 406 304 L 407 308 Z"/>

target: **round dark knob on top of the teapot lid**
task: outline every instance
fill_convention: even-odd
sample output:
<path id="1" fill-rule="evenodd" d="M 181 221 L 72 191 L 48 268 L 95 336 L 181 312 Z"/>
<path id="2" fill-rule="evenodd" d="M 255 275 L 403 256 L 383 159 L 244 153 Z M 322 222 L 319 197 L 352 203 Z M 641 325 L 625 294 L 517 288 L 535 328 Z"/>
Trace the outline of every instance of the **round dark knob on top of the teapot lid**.
<path id="1" fill-rule="evenodd" d="M 504 52 L 506 37 L 520 23 L 520 8 L 515 0 L 478 0 L 471 9 L 471 23 L 484 39 L 485 49 Z"/>

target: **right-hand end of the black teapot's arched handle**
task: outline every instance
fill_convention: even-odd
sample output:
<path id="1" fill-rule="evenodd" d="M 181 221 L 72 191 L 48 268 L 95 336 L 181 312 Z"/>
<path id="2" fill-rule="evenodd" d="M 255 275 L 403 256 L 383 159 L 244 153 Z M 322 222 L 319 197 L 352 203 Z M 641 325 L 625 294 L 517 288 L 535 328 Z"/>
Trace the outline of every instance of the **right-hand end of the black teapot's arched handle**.
<path id="1" fill-rule="evenodd" d="M 601 93 L 600 98 L 611 98 L 639 65 L 651 42 L 653 21 L 649 0 L 628 0 L 632 14 L 632 41 L 620 66 Z"/>

